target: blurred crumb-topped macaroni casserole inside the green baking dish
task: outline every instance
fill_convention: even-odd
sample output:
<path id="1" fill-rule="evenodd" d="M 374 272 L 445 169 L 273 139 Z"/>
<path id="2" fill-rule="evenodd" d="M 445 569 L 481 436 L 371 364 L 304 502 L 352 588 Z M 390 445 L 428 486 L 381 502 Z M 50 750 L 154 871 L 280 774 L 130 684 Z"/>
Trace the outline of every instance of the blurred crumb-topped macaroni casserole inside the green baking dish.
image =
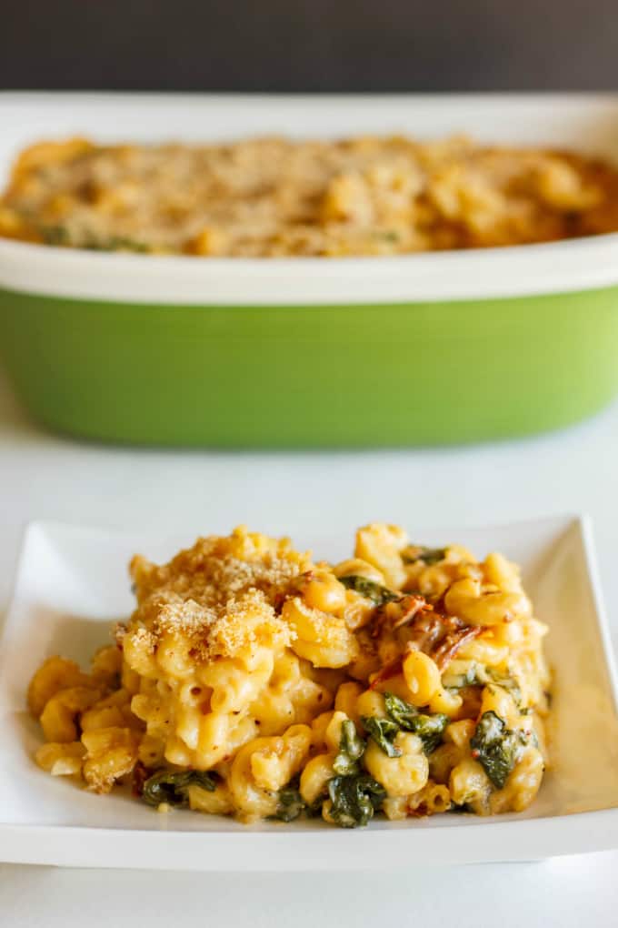
<path id="1" fill-rule="evenodd" d="M 465 137 L 228 144 L 40 142 L 0 199 L 0 236 L 96 251 L 388 255 L 618 230 L 618 170 Z"/>

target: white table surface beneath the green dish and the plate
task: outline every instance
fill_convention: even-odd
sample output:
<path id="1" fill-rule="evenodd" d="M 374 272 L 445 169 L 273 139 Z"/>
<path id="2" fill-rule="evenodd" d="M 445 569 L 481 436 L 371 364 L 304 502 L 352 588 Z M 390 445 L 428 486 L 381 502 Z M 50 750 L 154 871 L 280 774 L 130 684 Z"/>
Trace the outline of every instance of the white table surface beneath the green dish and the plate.
<path id="1" fill-rule="evenodd" d="M 0 373 L 0 612 L 34 518 L 192 533 L 318 534 L 370 520 L 503 522 L 586 511 L 618 642 L 618 406 L 567 432 L 457 449 L 209 454 L 71 442 L 34 427 Z M 403 515 L 402 515 L 403 514 Z M 322 533 L 323 534 L 323 533 Z M 613 618 L 615 616 L 615 618 Z M 618 834 L 616 835 L 618 847 Z M 1 848 L 0 848 L 1 857 Z M 402 864 L 404 862 L 402 861 Z M 368 862 L 371 866 L 371 862 Z M 0 864 L 0 924 L 590 928 L 618 923 L 618 852 L 393 874 L 148 873 Z M 395 923 L 395 922 L 393 922 Z"/>

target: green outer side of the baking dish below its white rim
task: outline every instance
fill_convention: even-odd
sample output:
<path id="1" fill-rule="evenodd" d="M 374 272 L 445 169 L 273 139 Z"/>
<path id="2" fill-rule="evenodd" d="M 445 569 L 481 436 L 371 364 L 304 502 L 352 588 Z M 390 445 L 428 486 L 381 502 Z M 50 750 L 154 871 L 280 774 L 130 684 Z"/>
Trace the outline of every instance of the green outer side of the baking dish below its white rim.
<path id="1" fill-rule="evenodd" d="M 36 419 L 108 441 L 470 442 L 567 425 L 618 391 L 618 288 L 320 308 L 2 290 L 0 332 Z"/>

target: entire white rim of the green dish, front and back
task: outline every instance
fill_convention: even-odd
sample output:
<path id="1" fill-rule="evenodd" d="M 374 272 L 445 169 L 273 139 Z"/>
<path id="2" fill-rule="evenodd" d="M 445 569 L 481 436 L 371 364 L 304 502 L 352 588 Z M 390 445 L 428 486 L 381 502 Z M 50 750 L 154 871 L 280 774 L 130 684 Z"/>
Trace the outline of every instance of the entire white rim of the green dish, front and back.
<path id="1" fill-rule="evenodd" d="M 521 136 L 522 144 L 539 145 L 550 145 L 554 136 L 562 138 L 565 125 L 571 135 L 573 124 L 582 150 L 599 153 L 607 148 L 613 157 L 618 131 L 618 97 L 603 93 L 248 97 L 9 92 L 0 94 L 0 109 L 6 138 L 12 139 L 6 145 L 13 153 L 26 144 L 24 139 L 67 135 L 75 127 L 96 137 L 91 127 L 99 124 L 104 137 L 134 135 L 138 140 L 160 135 L 161 122 L 171 136 L 182 134 L 183 126 L 188 126 L 191 140 L 195 131 L 201 133 L 199 121 L 205 115 L 210 127 L 215 126 L 223 137 L 287 131 L 282 126 L 289 126 L 290 135 L 311 136 L 358 132 L 360 126 L 368 132 L 395 131 L 397 125 L 402 131 L 409 131 L 411 125 L 410 132 L 416 126 L 421 137 L 443 135 L 445 126 L 456 129 L 459 125 L 469 126 L 471 134 L 478 135 L 478 126 L 491 124 L 491 132 L 481 132 L 480 137 L 516 144 L 511 139 L 515 135 Z M 512 128 L 518 125 L 520 129 Z M 547 137 L 535 142 L 537 132 Z M 616 285 L 618 233 L 469 251 L 259 259 L 100 253 L 0 238 L 0 288 L 113 303 L 433 303 L 563 294 Z"/>

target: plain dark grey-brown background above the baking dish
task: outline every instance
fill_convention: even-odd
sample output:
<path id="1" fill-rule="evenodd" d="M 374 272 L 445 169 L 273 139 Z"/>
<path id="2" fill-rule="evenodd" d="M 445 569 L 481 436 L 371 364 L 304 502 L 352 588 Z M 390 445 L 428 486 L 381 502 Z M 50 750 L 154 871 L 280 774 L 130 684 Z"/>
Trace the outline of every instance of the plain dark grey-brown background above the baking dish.
<path id="1" fill-rule="evenodd" d="M 0 87 L 618 88 L 618 0 L 0 0 Z"/>

